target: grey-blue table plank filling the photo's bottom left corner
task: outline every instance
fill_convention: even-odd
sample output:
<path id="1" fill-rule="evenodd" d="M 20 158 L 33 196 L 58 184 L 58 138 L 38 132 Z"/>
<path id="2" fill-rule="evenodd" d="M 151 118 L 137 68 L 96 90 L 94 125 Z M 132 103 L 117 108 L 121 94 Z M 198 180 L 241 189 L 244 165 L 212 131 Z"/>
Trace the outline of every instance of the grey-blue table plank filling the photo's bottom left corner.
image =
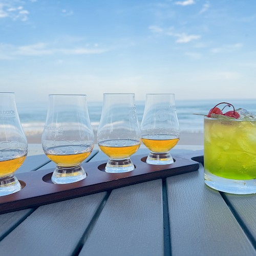
<path id="1" fill-rule="evenodd" d="M 105 195 L 103 192 L 40 206 L 0 242 L 1 254 L 72 255 Z"/>

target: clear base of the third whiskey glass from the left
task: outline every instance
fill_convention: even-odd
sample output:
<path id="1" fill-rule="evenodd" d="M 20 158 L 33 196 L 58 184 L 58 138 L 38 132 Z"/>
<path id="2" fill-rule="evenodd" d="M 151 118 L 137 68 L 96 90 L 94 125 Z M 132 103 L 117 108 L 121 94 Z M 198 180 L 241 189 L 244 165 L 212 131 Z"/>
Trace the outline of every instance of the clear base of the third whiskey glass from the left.
<path id="1" fill-rule="evenodd" d="M 106 163 L 105 172 L 106 173 L 127 173 L 134 170 L 134 164 L 130 158 L 127 159 L 112 159 Z"/>

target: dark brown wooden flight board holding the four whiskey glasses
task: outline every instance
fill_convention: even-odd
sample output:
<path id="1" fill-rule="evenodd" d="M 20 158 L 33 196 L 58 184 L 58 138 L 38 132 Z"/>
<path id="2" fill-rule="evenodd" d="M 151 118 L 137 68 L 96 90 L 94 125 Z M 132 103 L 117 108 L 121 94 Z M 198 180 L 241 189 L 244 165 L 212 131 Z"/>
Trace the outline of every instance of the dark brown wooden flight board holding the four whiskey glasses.
<path id="1" fill-rule="evenodd" d="M 83 163 L 87 177 L 69 184 L 53 184 L 53 168 L 17 174 L 23 188 L 11 195 L 0 197 L 0 214 L 192 172 L 199 168 L 198 162 L 175 156 L 173 164 L 165 165 L 147 164 L 145 155 L 132 156 L 131 160 L 136 166 L 135 170 L 119 174 L 104 172 L 105 160 Z"/>

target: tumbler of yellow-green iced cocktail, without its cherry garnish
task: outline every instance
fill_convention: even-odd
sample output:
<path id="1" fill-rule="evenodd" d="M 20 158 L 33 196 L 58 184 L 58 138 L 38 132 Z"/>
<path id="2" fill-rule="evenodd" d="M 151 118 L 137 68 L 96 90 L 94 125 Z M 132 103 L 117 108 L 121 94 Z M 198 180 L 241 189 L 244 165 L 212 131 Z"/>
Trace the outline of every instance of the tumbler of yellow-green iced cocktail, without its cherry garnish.
<path id="1" fill-rule="evenodd" d="M 256 119 L 204 118 L 204 179 L 220 191 L 256 193 Z"/>

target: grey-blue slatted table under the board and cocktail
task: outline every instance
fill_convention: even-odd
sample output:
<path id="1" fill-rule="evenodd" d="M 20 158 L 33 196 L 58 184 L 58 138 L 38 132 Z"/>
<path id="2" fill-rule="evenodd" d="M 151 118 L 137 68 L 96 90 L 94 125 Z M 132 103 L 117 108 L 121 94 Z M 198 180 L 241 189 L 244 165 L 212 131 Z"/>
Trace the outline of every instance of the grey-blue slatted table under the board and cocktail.
<path id="1" fill-rule="evenodd" d="M 94 151 L 89 160 L 105 159 Z M 30 156 L 17 172 L 54 166 L 45 155 Z M 202 164 L 195 172 L 0 216 L 0 255 L 256 255 L 256 195 L 207 187 Z"/>

